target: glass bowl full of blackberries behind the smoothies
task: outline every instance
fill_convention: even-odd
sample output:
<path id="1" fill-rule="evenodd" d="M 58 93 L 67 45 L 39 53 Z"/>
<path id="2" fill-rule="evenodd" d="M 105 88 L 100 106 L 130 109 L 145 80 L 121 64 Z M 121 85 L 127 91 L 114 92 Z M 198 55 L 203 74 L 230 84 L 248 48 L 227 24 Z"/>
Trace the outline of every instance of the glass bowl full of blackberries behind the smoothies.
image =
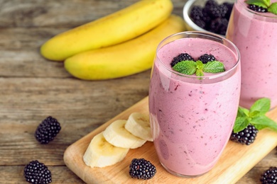
<path id="1" fill-rule="evenodd" d="M 188 30 L 225 36 L 234 0 L 188 0 L 183 16 Z"/>

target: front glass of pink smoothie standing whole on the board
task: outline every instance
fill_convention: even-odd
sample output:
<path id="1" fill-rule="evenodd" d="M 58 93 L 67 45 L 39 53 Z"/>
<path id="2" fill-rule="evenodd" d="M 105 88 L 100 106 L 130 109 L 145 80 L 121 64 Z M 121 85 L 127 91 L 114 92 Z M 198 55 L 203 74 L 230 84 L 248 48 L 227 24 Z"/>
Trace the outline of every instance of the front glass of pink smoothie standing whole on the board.
<path id="1" fill-rule="evenodd" d="M 212 54 L 225 71 L 203 76 L 171 67 L 181 53 Z M 165 38 L 156 50 L 149 88 L 151 131 L 158 159 L 175 176 L 210 171 L 232 133 L 239 106 L 240 55 L 229 40 L 188 31 Z"/>

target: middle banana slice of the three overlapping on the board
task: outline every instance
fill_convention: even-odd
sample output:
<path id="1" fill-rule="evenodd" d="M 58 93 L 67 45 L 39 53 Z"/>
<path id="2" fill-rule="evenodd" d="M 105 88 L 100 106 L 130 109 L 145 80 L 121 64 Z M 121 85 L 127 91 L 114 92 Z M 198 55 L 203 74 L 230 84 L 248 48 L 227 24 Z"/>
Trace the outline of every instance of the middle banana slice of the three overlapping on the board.
<path id="1" fill-rule="evenodd" d="M 125 129 L 126 120 L 116 120 L 104 130 L 103 135 L 110 144 L 135 149 L 142 146 L 146 140 L 136 137 Z"/>

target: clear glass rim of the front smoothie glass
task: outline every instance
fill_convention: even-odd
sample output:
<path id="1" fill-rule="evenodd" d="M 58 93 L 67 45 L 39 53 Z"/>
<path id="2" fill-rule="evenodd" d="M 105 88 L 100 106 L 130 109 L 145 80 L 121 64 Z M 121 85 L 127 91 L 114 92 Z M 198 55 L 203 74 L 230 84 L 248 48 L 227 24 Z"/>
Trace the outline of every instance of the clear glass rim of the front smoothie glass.
<path id="1" fill-rule="evenodd" d="M 208 76 L 196 76 L 196 75 L 187 75 L 187 74 L 182 74 L 178 71 L 175 71 L 173 70 L 171 67 L 168 67 L 166 66 L 162 60 L 158 57 L 158 50 L 161 49 L 161 47 L 163 47 L 163 45 L 166 45 L 167 43 L 166 40 L 169 40 L 170 38 L 173 38 L 173 37 L 176 37 L 178 35 L 202 35 L 202 36 L 206 36 L 206 37 L 210 37 L 210 38 L 214 38 L 214 39 L 217 39 L 217 40 L 222 40 L 221 44 L 223 44 L 223 41 L 224 42 L 228 42 L 230 45 L 232 45 L 232 47 L 234 47 L 234 50 L 236 50 L 237 53 L 234 53 L 236 56 L 237 56 L 237 61 L 236 63 L 232 66 L 232 68 L 226 70 L 226 71 L 222 71 L 222 72 L 219 72 L 217 74 L 212 74 L 212 75 L 208 75 Z M 180 38 L 181 39 L 181 38 Z M 207 39 L 207 38 L 204 38 L 204 39 Z M 176 39 L 178 40 L 178 39 Z M 215 42 L 218 42 L 216 40 L 214 40 Z M 171 41 L 172 42 L 172 41 Z M 169 43 L 169 42 L 168 42 Z M 232 50 L 232 49 L 231 49 Z M 234 52 L 232 50 L 232 52 Z M 184 32 L 180 32 L 180 33 L 175 33 L 173 35 L 169 35 L 168 37 L 164 38 L 163 40 L 161 40 L 161 42 L 158 44 L 158 47 L 156 49 L 156 58 L 158 60 L 159 63 L 161 63 L 163 65 L 163 67 L 170 71 L 171 73 L 173 74 L 176 74 L 178 76 L 183 76 L 185 78 L 190 78 L 190 79 L 201 79 L 201 80 L 207 80 L 207 79 L 218 79 L 219 77 L 222 77 L 222 76 L 227 76 L 229 73 L 232 73 L 232 71 L 234 71 L 234 69 L 237 69 L 238 65 L 239 65 L 239 62 L 240 62 L 240 52 L 239 52 L 239 49 L 237 48 L 236 45 L 234 45 L 233 42 L 231 42 L 230 40 L 227 40 L 227 38 L 224 38 L 220 35 L 217 35 L 217 34 L 214 34 L 214 33 L 207 33 L 205 31 L 197 31 L 197 30 L 192 30 L 192 31 L 184 31 Z"/>

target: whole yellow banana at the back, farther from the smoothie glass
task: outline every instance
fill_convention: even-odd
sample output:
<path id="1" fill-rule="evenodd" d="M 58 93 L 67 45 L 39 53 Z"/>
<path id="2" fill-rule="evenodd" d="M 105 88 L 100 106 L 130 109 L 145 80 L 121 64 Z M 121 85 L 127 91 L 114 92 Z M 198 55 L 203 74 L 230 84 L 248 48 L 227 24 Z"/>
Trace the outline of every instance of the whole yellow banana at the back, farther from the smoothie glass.
<path id="1" fill-rule="evenodd" d="M 79 52 L 116 45 L 155 28 L 172 10 L 170 0 L 141 0 L 50 38 L 40 47 L 40 54 L 46 59 L 63 61 Z"/>

